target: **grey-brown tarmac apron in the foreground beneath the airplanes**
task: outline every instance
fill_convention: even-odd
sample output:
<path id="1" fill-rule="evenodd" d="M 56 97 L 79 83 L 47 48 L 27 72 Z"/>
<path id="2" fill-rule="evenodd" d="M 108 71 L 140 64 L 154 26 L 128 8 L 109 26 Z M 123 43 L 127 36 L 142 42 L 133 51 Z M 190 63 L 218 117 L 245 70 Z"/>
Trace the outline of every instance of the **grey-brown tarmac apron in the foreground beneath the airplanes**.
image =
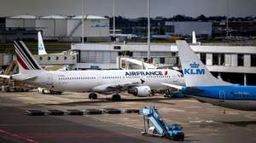
<path id="1" fill-rule="evenodd" d="M 185 132 L 183 142 L 256 142 L 256 112 L 212 106 L 190 98 L 166 99 L 161 94 L 143 98 L 122 95 L 122 101 L 112 102 L 109 95 L 89 100 L 87 93 L 0 92 L 0 142 L 177 142 L 141 135 L 143 115 L 137 113 L 26 115 L 26 110 L 31 109 L 124 110 L 144 106 L 156 106 L 165 123 L 181 123 Z"/>

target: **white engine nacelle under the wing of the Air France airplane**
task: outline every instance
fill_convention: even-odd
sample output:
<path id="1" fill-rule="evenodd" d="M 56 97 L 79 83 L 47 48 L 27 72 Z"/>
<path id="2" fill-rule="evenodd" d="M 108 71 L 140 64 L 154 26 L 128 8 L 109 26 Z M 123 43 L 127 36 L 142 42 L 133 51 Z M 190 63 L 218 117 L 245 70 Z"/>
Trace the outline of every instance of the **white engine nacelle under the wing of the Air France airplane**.
<path id="1" fill-rule="evenodd" d="M 139 86 L 128 89 L 128 93 L 138 97 L 146 97 L 151 94 L 151 89 L 148 86 Z"/>

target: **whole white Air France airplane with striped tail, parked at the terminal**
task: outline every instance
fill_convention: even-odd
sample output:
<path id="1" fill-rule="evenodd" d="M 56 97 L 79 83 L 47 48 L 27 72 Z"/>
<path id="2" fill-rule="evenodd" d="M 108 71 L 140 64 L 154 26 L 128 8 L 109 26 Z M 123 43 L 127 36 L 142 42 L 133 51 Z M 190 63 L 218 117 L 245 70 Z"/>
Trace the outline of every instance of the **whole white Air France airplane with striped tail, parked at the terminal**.
<path id="1" fill-rule="evenodd" d="M 154 89 L 170 89 L 160 83 L 183 85 L 183 75 L 174 70 L 96 70 L 47 72 L 26 48 L 25 43 L 15 41 L 15 52 L 19 73 L 9 77 L 20 83 L 28 83 L 55 91 L 92 92 L 90 99 L 96 99 L 96 93 L 113 94 L 113 100 L 120 100 L 119 93 L 128 91 L 136 96 L 148 96 Z"/>

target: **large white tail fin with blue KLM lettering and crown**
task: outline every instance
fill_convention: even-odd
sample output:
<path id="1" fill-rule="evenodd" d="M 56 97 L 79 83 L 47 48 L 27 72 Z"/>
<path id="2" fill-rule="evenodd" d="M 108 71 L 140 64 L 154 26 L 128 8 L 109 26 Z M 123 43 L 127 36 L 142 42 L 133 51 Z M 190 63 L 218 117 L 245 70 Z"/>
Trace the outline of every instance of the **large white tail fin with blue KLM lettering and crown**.
<path id="1" fill-rule="evenodd" d="M 186 41 L 177 40 L 176 43 L 186 86 L 230 84 L 213 77 Z"/>

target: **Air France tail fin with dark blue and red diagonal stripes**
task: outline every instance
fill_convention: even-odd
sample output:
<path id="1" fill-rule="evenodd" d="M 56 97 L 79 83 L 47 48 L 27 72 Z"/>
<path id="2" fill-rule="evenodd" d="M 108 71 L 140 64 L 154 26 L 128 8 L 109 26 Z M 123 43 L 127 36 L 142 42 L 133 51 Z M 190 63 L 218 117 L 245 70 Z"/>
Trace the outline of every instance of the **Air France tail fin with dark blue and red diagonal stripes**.
<path id="1" fill-rule="evenodd" d="M 19 72 L 42 70 L 42 67 L 38 65 L 37 60 L 35 60 L 34 56 L 22 41 L 15 41 L 15 53 L 18 61 Z"/>

